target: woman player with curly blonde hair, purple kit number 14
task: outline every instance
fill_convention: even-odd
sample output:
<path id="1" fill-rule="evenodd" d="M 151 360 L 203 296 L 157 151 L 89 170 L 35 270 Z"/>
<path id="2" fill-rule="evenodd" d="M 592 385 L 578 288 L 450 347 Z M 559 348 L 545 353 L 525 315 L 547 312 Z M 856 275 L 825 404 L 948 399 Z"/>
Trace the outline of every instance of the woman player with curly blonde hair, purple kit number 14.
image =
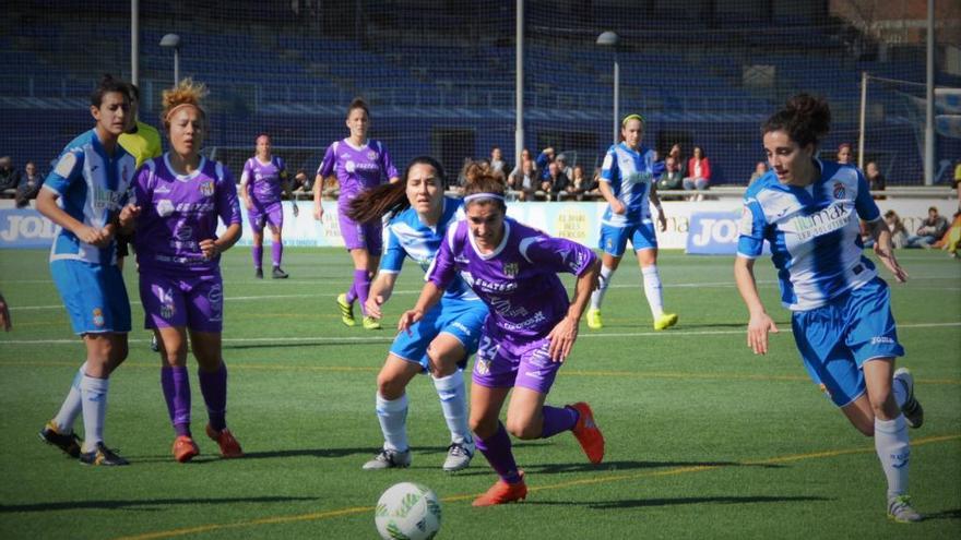
<path id="1" fill-rule="evenodd" d="M 146 161 L 133 185 L 139 215 L 134 248 L 144 326 L 157 335 L 161 386 L 176 439 L 173 453 L 188 461 L 200 451 L 190 432 L 187 334 L 200 367 L 206 434 L 223 457 L 240 457 L 227 429 L 227 367 L 221 353 L 224 286 L 221 253 L 240 238 L 240 204 L 230 171 L 200 155 L 206 132 L 205 87 L 187 79 L 164 91 L 163 122 L 170 152 Z M 217 237 L 217 219 L 226 230 Z"/>

